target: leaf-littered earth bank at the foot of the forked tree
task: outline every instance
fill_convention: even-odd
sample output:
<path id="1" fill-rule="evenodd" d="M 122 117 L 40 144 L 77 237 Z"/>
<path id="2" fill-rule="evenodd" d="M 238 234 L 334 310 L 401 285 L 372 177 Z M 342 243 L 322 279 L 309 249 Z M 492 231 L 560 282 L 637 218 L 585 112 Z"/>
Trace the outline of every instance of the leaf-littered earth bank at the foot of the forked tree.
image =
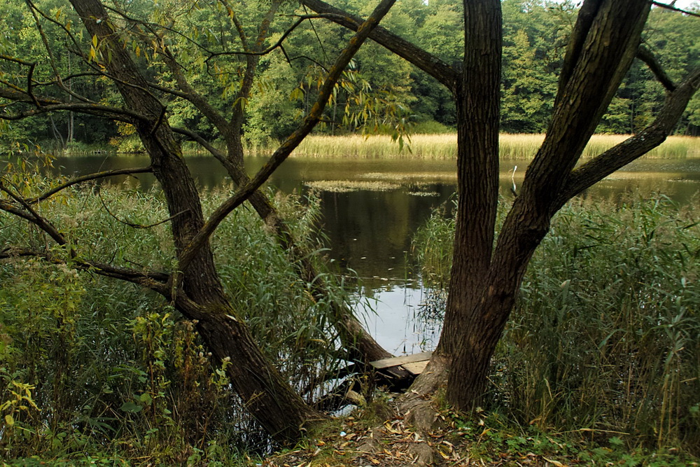
<path id="1" fill-rule="evenodd" d="M 554 433 L 535 424 L 513 424 L 503 414 L 477 409 L 470 419 L 433 404 L 437 419 L 420 433 L 395 415 L 391 394 L 330 421 L 291 449 L 245 466 L 696 466 L 676 449 L 629 448 L 614 433 L 594 429 Z M 594 440 L 594 439 L 597 439 Z"/>

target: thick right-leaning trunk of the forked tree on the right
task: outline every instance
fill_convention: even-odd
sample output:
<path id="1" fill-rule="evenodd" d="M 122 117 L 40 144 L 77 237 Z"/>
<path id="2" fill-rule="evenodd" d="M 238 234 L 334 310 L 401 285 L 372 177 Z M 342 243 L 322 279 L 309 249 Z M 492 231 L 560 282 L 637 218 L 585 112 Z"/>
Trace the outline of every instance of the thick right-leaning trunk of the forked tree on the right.
<path id="1" fill-rule="evenodd" d="M 472 3 L 465 2 L 465 8 Z M 500 25 L 500 18 L 497 19 L 496 13 L 492 12 L 498 8 L 499 2 L 493 0 L 489 3 L 493 8 L 483 11 L 482 15 L 488 15 Z M 540 151 L 528 167 L 521 193 L 505 220 L 489 267 L 482 270 L 482 279 L 477 286 L 474 281 L 469 281 L 468 275 L 460 274 L 463 265 L 471 260 L 457 256 L 460 250 L 456 249 L 450 293 L 457 295 L 458 299 L 448 302 L 445 323 L 461 329 L 458 333 L 448 333 L 458 334 L 458 342 L 449 340 L 440 345 L 455 346 L 447 398 L 462 410 L 470 409 L 482 396 L 491 356 L 510 316 L 528 261 L 547 234 L 549 221 L 556 212 L 556 194 L 566 186 L 598 120 L 629 69 L 649 9 L 650 2 L 645 0 L 596 0 L 582 6 L 582 14 L 564 59 L 552 123 Z M 477 37 L 493 30 L 494 26 L 487 24 L 490 22 L 483 19 L 476 22 Z M 486 31 L 479 33 L 478 28 L 482 25 Z M 467 43 L 470 39 L 477 41 L 477 37 L 468 36 Z M 475 71 L 496 79 L 493 62 L 500 60 L 500 54 L 496 57 L 496 50 L 484 50 L 477 60 L 479 64 Z M 469 57 L 465 57 L 465 62 L 468 61 Z M 475 88 L 472 92 L 481 93 Z M 498 102 L 498 97 L 493 99 Z M 466 102 L 469 100 L 470 95 L 467 95 Z M 470 154 L 460 156 L 469 158 Z M 486 176 L 483 172 L 466 175 L 471 178 Z M 459 190 L 460 202 L 465 201 L 464 196 L 473 195 L 464 186 Z M 463 232 L 457 232 L 458 242 L 463 235 Z M 466 246 L 469 251 L 474 248 Z M 468 288 L 461 290 L 465 286 Z M 466 299 L 463 298 L 465 294 L 469 294 Z"/>

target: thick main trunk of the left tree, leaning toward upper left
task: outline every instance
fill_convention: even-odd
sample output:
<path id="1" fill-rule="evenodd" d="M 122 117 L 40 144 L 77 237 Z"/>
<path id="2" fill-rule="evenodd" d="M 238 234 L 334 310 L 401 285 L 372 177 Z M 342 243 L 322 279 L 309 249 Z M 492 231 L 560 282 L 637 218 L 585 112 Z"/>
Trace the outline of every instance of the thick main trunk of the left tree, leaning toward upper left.
<path id="1" fill-rule="evenodd" d="M 204 216 L 193 178 L 165 120 L 165 109 L 147 92 L 144 77 L 120 43 L 113 29 L 116 27 L 99 0 L 71 3 L 87 31 L 111 50 L 111 60 L 105 66 L 116 78 L 125 104 L 146 117 L 136 124 L 137 132 L 173 216 L 172 235 L 180 255 L 204 225 Z M 302 434 L 304 424 L 322 417 L 284 382 L 244 323 L 236 319 L 223 293 L 208 242 L 171 280 L 170 300 L 185 316 L 198 320 L 197 328 L 218 360 L 230 359 L 226 368 L 231 384 L 268 433 L 279 441 L 294 440 Z"/>

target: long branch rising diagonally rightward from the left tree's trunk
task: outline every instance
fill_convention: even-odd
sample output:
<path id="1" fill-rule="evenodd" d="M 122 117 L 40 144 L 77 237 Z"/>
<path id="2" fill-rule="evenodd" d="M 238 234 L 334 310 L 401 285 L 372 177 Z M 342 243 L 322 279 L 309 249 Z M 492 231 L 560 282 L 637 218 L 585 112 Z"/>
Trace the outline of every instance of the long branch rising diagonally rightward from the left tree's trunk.
<path id="1" fill-rule="evenodd" d="M 207 223 L 202 226 L 202 229 L 197 232 L 197 235 L 193 237 L 188 246 L 183 249 L 180 257 L 180 270 L 185 270 L 188 267 L 189 263 L 195 258 L 197 251 L 199 251 L 199 249 L 209 240 L 211 234 L 214 233 L 214 230 L 216 230 L 218 225 L 226 218 L 226 216 L 228 216 L 231 211 L 247 200 L 248 197 L 255 192 L 255 190 L 260 188 L 262 183 L 265 183 L 269 176 L 272 175 L 272 172 L 274 172 L 274 170 L 279 167 L 284 160 L 286 160 L 288 155 L 290 155 L 290 153 L 297 146 L 299 146 L 304 137 L 311 132 L 316 123 L 318 123 L 318 120 L 321 118 L 323 109 L 325 109 L 325 104 L 328 103 L 332 89 L 335 86 L 335 83 L 337 83 L 339 78 L 342 76 L 343 70 L 345 67 L 347 67 L 352 57 L 360 49 L 363 42 L 368 36 L 370 36 L 372 29 L 376 27 L 379 20 L 384 18 L 384 15 L 388 13 L 394 2 L 395 0 L 382 0 L 377 8 L 375 8 L 372 14 L 367 18 L 367 20 L 365 20 L 363 25 L 360 26 L 357 33 L 350 39 L 348 46 L 344 48 L 339 57 L 337 57 L 335 64 L 333 64 L 333 66 L 330 68 L 328 76 L 325 78 L 323 86 L 318 92 L 318 98 L 316 98 L 314 106 L 311 107 L 311 112 L 309 115 L 304 118 L 304 123 L 302 123 L 302 126 L 293 132 L 293 134 L 291 134 L 281 144 L 281 146 L 274 151 L 272 157 L 269 158 L 267 163 L 258 171 L 257 174 L 255 174 L 253 179 L 239 188 L 235 195 L 223 202 L 223 204 L 221 204 L 221 206 L 219 206 L 214 213 L 211 214 L 211 217 Z"/>

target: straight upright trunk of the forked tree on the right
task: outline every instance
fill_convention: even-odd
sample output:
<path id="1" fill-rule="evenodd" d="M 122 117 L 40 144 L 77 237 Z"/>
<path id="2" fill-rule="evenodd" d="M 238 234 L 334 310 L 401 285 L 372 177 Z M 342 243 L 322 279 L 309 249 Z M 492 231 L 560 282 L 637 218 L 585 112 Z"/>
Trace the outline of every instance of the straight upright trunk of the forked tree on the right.
<path id="1" fill-rule="evenodd" d="M 465 56 L 458 82 L 454 256 L 439 354 L 451 356 L 488 271 L 498 209 L 501 14 L 498 0 L 464 2 Z"/>

